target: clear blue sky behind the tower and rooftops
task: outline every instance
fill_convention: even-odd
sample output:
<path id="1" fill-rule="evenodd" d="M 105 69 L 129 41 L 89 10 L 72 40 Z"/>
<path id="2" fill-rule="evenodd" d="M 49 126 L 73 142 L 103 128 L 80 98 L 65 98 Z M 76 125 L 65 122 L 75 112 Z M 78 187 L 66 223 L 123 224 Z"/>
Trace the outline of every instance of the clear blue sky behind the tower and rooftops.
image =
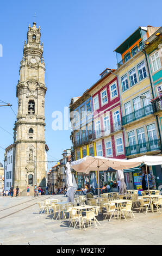
<path id="1" fill-rule="evenodd" d="M 46 64 L 45 100 L 48 160 L 61 158 L 71 147 L 71 131 L 53 131 L 52 113 L 64 111 L 71 97 L 82 95 L 105 68 L 116 68 L 114 49 L 139 26 L 161 26 L 159 0 L 46 0 L 1 1 L 0 100 L 10 102 L 17 113 L 18 70 L 29 24 L 36 12 L 41 27 Z M 0 108 L 0 126 L 13 133 L 16 117 L 9 107 Z M 0 146 L 7 148 L 13 137 L 0 128 Z M 0 162 L 4 150 L 0 148 Z M 53 163 L 48 164 L 48 168 Z"/>

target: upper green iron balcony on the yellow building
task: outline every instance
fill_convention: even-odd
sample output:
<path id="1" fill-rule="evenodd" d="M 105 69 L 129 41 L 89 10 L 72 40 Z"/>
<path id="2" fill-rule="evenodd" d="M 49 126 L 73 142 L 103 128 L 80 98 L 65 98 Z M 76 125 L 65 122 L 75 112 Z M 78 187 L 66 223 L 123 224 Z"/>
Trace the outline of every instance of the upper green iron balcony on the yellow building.
<path id="1" fill-rule="evenodd" d="M 154 109 L 153 105 L 148 105 L 148 106 L 142 107 L 142 108 L 122 117 L 122 125 L 131 123 L 131 122 L 138 120 L 142 117 L 146 117 L 146 115 L 153 114 L 154 112 L 155 112 L 155 109 Z"/>

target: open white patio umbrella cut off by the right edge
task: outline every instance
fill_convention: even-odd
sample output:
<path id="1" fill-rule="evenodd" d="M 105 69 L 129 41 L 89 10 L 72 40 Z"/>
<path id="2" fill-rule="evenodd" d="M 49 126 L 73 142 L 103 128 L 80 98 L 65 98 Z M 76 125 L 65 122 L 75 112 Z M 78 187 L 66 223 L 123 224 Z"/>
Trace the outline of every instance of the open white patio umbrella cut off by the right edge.
<path id="1" fill-rule="evenodd" d="M 134 159 L 127 160 L 130 162 L 136 162 L 139 165 L 141 163 L 146 164 L 146 175 L 147 175 L 147 184 L 148 184 L 148 192 L 149 192 L 149 183 L 148 183 L 148 173 L 147 173 L 147 166 L 158 166 L 162 164 L 162 156 L 139 156 Z"/>

